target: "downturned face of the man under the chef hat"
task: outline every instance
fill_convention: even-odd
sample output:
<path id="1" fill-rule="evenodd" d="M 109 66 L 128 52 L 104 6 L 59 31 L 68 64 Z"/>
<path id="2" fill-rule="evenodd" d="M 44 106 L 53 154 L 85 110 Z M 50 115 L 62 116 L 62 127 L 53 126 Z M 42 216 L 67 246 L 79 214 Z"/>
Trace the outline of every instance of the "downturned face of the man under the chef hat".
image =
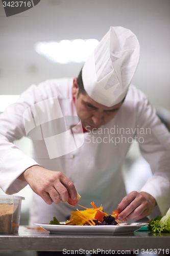
<path id="1" fill-rule="evenodd" d="M 77 87 L 78 85 L 76 83 L 77 78 L 74 78 L 72 96 L 75 97 L 77 114 L 81 119 L 83 127 L 86 129 L 88 126 L 88 130 L 92 130 L 93 128 L 99 129 L 101 125 L 110 122 L 123 103 L 120 102 L 108 108 L 107 106 L 94 101 L 88 94 L 83 95 L 80 93 L 78 96 L 79 87 Z"/>

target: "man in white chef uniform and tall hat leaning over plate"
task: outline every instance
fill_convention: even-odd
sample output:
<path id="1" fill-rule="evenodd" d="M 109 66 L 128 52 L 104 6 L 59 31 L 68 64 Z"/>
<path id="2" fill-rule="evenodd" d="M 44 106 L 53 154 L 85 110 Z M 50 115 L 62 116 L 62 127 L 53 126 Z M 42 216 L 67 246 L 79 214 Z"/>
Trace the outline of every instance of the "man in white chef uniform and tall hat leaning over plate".
<path id="1" fill-rule="evenodd" d="M 170 135 L 131 80 L 139 62 L 132 31 L 111 27 L 78 77 L 32 85 L 1 115 L 1 180 L 7 194 L 30 185 L 30 225 L 65 221 L 90 202 L 119 219 L 139 220 L 170 205 Z M 32 158 L 14 140 L 33 142 Z M 120 167 L 135 139 L 153 176 L 126 195 Z"/>

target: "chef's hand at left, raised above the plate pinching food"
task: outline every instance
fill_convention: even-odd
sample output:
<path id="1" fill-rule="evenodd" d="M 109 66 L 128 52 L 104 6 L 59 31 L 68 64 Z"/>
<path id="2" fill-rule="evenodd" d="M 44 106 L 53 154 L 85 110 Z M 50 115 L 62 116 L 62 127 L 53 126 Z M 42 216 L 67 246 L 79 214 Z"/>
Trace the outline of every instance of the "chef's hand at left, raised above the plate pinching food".
<path id="1" fill-rule="evenodd" d="M 26 181 L 47 204 L 59 204 L 61 200 L 67 202 L 69 194 L 72 200 L 77 199 L 74 184 L 61 172 L 34 165 L 25 170 L 18 179 Z"/>

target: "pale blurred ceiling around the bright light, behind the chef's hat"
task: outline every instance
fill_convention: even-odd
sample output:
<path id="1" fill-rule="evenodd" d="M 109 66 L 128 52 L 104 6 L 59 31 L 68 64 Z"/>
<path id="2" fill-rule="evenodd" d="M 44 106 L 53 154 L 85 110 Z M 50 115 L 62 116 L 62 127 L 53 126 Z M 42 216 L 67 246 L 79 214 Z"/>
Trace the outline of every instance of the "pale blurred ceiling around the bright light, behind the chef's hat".
<path id="1" fill-rule="evenodd" d="M 169 0 L 41 0 L 10 17 L 0 1 L 0 94 L 20 94 L 32 83 L 78 75 L 82 63 L 52 63 L 34 51 L 36 41 L 100 40 L 110 26 L 123 26 L 140 42 L 133 83 L 154 105 L 170 110 L 169 25 Z"/>

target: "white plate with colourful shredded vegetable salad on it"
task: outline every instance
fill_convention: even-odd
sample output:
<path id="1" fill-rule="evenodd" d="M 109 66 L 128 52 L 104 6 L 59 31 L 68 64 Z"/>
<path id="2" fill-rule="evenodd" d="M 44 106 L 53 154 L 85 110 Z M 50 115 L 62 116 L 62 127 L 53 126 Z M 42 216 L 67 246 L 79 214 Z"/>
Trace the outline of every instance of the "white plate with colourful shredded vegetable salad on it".
<path id="1" fill-rule="evenodd" d="M 60 223 L 56 217 L 50 224 L 35 224 L 55 234 L 130 234 L 140 229 L 147 223 L 120 223 L 118 212 L 113 211 L 112 215 L 103 211 L 102 205 L 96 207 L 94 202 L 92 208 L 85 210 L 71 211 L 71 217 L 66 222 Z M 127 221 L 126 219 L 124 221 Z"/>

